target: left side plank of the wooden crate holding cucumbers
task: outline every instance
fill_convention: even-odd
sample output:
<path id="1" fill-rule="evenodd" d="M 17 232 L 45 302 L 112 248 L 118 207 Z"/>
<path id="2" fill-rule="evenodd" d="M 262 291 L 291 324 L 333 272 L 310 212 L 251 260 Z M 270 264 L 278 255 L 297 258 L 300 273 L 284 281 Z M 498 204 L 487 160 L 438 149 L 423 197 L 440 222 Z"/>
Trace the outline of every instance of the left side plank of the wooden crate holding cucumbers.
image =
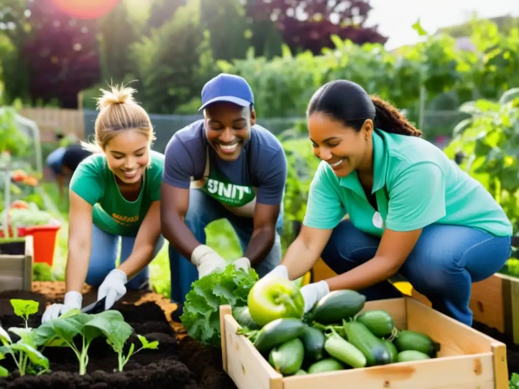
<path id="1" fill-rule="evenodd" d="M 283 389 L 283 376 L 244 336 L 236 334 L 240 325 L 230 314 L 223 315 L 227 374 L 240 389 Z"/>

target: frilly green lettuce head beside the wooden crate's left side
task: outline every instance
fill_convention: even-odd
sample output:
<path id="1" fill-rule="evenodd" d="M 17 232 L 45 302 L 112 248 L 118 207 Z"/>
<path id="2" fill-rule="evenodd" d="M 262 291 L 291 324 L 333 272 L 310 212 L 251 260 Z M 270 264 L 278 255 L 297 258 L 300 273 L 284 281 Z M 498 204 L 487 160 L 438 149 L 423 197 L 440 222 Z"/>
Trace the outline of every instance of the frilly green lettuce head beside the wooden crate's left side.
<path id="1" fill-rule="evenodd" d="M 220 305 L 229 304 L 232 308 L 247 305 L 249 291 L 258 279 L 254 269 L 245 272 L 228 265 L 221 273 L 195 281 L 180 316 L 187 334 L 204 345 L 221 348 Z"/>

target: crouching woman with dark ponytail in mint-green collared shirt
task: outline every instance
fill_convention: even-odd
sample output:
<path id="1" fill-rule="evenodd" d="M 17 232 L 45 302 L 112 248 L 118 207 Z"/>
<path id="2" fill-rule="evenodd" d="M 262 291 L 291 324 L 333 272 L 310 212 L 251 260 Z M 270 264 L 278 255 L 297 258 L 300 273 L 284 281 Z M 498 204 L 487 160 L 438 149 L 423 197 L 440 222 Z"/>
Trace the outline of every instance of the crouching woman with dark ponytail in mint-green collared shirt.
<path id="1" fill-rule="evenodd" d="M 322 86 L 307 118 L 322 162 L 302 230 L 266 277 L 295 280 L 321 257 L 338 275 L 302 288 L 307 312 L 337 289 L 401 297 L 387 281 L 399 273 L 434 309 L 472 325 L 471 283 L 511 253 L 512 226 L 499 204 L 397 108 L 354 82 Z"/>

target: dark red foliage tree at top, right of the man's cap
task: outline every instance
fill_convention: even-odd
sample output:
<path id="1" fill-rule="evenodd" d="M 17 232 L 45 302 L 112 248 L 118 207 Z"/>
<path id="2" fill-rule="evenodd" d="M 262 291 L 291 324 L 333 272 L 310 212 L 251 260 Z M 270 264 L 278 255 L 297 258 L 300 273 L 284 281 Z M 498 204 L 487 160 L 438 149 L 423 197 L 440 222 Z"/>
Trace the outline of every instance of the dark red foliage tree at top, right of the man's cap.
<path id="1" fill-rule="evenodd" d="M 293 51 L 319 54 L 323 47 L 334 47 L 331 35 L 359 45 L 387 41 L 377 26 L 364 26 L 372 9 L 366 0 L 248 0 L 247 8 L 254 20 L 275 20 Z"/>

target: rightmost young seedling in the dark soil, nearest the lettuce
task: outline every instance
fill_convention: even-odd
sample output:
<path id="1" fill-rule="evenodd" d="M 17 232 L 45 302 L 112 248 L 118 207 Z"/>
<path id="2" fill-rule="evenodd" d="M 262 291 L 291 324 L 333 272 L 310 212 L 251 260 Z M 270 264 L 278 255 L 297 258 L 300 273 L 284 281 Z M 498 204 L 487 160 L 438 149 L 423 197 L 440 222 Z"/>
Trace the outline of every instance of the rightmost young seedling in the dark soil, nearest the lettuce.
<path id="1" fill-rule="evenodd" d="M 130 345 L 128 354 L 124 355 L 124 346 L 128 338 L 133 334 L 133 328 L 124 321 L 121 313 L 118 311 L 105 311 L 97 315 L 94 319 L 87 323 L 89 327 L 98 328 L 106 337 L 106 342 L 110 344 L 112 349 L 117 353 L 118 370 L 122 371 L 130 357 L 144 349 L 156 349 L 159 342 L 148 342 L 142 335 L 137 337 L 142 343 L 141 348 L 135 350 L 135 344 Z"/>

